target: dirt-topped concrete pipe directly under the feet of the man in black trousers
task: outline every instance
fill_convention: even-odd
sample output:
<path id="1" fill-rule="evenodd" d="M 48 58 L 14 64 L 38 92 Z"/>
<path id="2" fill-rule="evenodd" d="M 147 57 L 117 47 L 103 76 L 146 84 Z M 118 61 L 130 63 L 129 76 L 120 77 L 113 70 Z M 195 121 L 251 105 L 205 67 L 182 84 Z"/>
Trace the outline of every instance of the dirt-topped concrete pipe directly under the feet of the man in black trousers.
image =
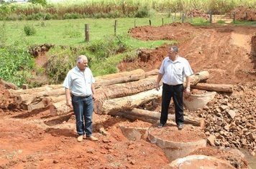
<path id="1" fill-rule="evenodd" d="M 169 161 L 186 157 L 198 148 L 205 148 L 204 136 L 200 127 L 191 125 L 185 125 L 183 130 L 170 125 L 162 128 L 150 127 L 148 130 L 150 142 L 162 148 Z"/>

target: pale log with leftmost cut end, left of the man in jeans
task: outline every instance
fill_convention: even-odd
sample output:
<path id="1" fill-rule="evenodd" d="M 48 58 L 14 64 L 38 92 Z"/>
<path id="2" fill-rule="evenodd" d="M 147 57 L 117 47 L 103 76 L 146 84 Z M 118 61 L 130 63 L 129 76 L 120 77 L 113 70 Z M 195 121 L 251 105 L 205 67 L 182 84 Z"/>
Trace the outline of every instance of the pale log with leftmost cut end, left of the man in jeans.
<path id="1" fill-rule="evenodd" d="M 25 105 L 29 105 L 32 102 L 41 101 L 43 97 L 59 95 L 65 95 L 65 90 L 63 87 L 57 90 L 46 90 L 42 92 L 34 92 L 34 94 L 18 95 L 14 97 L 14 100 L 17 104 L 23 103 Z"/>

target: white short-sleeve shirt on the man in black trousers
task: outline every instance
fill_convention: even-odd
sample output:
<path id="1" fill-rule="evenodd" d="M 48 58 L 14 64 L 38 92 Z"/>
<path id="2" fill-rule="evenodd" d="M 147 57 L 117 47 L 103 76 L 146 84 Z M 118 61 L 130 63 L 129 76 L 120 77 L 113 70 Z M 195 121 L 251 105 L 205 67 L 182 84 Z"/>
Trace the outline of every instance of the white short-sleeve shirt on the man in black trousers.
<path id="1" fill-rule="evenodd" d="M 193 74 L 188 60 L 183 57 L 178 57 L 174 62 L 169 57 L 165 57 L 159 72 L 163 74 L 163 83 L 168 85 L 183 84 L 184 77 Z"/>

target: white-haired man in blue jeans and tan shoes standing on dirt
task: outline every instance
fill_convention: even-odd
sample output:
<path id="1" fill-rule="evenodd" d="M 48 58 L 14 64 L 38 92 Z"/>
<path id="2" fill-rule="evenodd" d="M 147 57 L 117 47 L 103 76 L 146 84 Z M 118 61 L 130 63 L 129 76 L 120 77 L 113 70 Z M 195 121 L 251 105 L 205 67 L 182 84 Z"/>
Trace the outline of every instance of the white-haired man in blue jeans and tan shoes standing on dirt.
<path id="1" fill-rule="evenodd" d="M 92 135 L 94 82 L 91 69 L 88 68 L 87 57 L 85 55 L 79 56 L 76 60 L 76 67 L 70 69 L 63 82 L 66 104 L 73 107 L 76 115 L 78 142 L 83 141 L 83 138 L 92 141 L 98 140 Z"/>

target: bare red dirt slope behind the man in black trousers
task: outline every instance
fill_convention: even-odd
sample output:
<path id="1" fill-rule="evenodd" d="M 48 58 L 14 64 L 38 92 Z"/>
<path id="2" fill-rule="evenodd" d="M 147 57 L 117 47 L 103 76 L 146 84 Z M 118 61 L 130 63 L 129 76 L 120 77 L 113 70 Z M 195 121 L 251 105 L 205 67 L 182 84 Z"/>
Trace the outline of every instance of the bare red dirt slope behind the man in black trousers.
<path id="1" fill-rule="evenodd" d="M 215 84 L 255 82 L 255 59 L 252 57 L 252 53 L 255 53 L 255 32 L 256 27 L 250 26 L 196 27 L 181 23 L 160 27 L 141 26 L 130 30 L 132 37 L 141 40 L 177 41 L 180 56 L 188 59 L 193 72 L 209 71 L 207 82 Z M 168 45 L 163 45 L 156 49 L 140 49 L 137 60 L 122 62 L 119 69 L 159 69 L 168 48 Z"/>

